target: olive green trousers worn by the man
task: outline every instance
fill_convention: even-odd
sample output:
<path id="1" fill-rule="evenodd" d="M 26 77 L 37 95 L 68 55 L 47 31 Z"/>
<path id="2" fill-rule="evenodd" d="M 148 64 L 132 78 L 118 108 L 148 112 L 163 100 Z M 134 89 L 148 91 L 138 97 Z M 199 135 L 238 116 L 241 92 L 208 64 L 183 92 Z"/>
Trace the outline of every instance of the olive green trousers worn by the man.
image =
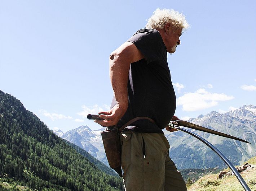
<path id="1" fill-rule="evenodd" d="M 186 183 L 169 157 L 162 133 L 120 133 L 126 191 L 186 191 Z"/>

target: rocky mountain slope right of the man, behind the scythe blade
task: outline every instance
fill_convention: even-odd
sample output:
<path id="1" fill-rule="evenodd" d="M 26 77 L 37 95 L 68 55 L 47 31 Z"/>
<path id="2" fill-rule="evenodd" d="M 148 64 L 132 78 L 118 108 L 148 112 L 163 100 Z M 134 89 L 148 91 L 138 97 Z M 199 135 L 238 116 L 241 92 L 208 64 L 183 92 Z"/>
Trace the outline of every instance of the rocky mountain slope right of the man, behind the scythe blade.
<path id="1" fill-rule="evenodd" d="M 207 115 L 191 118 L 189 122 L 224 132 L 247 140 L 237 140 L 191 130 L 219 149 L 234 165 L 244 163 L 256 155 L 256 106 L 243 106 L 224 114 L 212 111 Z M 184 127 L 185 128 L 185 127 Z M 165 132 L 171 145 L 170 155 L 178 168 L 225 167 L 226 165 L 210 148 L 184 132 Z"/>

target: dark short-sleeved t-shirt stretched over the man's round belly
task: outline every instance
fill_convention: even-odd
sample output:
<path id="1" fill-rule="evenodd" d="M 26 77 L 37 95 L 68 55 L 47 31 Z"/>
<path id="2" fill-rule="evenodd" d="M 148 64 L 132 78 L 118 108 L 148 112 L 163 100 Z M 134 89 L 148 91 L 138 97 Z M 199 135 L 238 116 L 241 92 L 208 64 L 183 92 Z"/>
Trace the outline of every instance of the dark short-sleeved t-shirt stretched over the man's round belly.
<path id="1" fill-rule="evenodd" d="M 123 126 L 135 117 L 149 117 L 126 127 L 137 132 L 162 132 L 171 121 L 176 108 L 176 97 L 167 64 L 167 52 L 160 33 L 155 29 L 141 29 L 129 40 L 144 55 L 144 59 L 131 63 L 128 80 L 129 105 L 118 122 Z M 115 105 L 113 98 L 111 107 Z"/>

